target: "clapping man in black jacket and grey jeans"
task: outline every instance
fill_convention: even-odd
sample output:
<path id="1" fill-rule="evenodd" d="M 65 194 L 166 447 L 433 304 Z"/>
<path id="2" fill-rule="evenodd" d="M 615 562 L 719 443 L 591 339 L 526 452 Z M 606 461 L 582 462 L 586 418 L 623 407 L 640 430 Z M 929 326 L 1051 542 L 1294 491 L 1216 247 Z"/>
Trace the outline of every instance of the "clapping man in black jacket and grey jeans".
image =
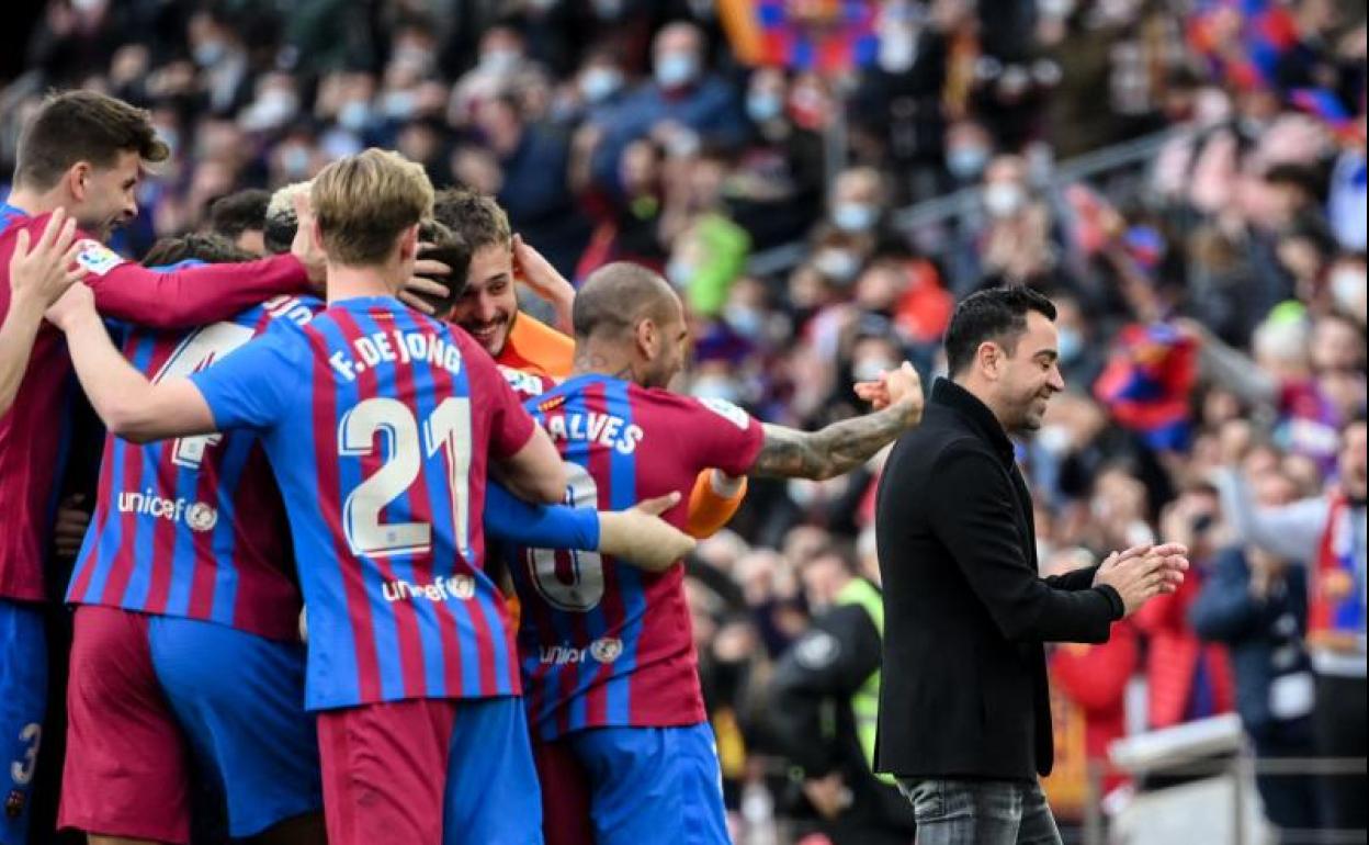
<path id="1" fill-rule="evenodd" d="M 876 768 L 913 804 L 920 845 L 1060 842 L 1036 779 L 1053 761 L 1042 642 L 1103 642 L 1173 589 L 1177 545 L 1114 552 L 1040 578 L 1009 434 L 1064 389 L 1055 308 L 1027 288 L 967 297 L 946 333 L 950 379 L 894 446 L 876 516 L 884 678 Z"/>

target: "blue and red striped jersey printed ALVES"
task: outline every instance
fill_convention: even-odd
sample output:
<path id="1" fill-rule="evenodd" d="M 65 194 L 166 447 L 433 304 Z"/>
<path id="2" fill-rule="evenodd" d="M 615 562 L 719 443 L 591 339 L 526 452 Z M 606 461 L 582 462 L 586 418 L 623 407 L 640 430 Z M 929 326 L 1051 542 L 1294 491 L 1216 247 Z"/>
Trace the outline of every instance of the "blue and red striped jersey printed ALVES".
<path id="1" fill-rule="evenodd" d="M 761 423 L 741 408 L 606 375 L 578 375 L 524 403 L 567 463 L 567 503 L 613 509 L 679 490 L 717 467 L 750 470 Z M 663 519 L 684 527 L 687 504 Z M 519 549 L 509 566 L 534 734 L 704 719 L 684 568 L 649 574 L 593 552 Z"/>

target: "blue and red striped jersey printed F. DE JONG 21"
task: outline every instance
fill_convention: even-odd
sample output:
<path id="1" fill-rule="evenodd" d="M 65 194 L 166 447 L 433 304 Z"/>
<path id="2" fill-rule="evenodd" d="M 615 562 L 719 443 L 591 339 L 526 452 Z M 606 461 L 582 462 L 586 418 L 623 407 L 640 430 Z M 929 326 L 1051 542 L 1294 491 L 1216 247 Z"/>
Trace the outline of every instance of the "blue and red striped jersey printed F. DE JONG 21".
<path id="1" fill-rule="evenodd" d="M 481 514 L 487 459 L 534 423 L 470 336 L 393 297 L 349 299 L 190 379 L 218 427 L 260 431 L 281 486 L 308 708 L 519 693 Z"/>

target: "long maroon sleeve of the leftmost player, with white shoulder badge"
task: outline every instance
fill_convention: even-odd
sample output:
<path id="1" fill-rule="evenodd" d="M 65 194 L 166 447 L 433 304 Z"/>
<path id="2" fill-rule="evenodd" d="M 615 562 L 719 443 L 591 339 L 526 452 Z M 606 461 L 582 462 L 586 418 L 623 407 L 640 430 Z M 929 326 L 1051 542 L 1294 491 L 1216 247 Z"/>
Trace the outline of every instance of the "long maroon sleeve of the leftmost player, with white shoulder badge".
<path id="1" fill-rule="evenodd" d="M 293 255 L 157 273 L 82 238 L 77 263 L 88 270 L 85 281 L 100 314 L 153 329 L 203 326 L 309 286 L 308 273 Z"/>

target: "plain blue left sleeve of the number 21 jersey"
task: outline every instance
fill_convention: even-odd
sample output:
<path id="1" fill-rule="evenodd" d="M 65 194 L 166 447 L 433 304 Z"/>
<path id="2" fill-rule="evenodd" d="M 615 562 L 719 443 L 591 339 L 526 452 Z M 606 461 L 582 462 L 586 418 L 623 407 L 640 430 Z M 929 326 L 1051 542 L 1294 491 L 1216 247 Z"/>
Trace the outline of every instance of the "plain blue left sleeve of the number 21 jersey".
<path id="1" fill-rule="evenodd" d="M 278 323 L 190 375 L 190 382 L 204 396 L 219 430 L 270 429 L 300 399 L 311 371 L 308 351 L 297 327 Z"/>

